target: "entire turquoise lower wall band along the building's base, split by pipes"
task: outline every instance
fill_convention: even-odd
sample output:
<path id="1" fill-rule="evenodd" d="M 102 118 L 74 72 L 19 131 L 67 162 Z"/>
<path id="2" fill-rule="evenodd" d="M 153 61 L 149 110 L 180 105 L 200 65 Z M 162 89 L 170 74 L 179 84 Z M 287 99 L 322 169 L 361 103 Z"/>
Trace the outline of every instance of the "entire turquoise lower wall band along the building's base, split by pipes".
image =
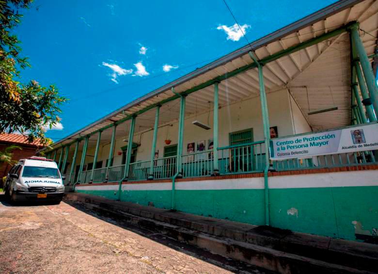
<path id="1" fill-rule="evenodd" d="M 78 192 L 117 198 L 114 191 Z M 271 226 L 347 240 L 356 240 L 353 221 L 370 233 L 378 228 L 378 186 L 270 189 L 269 193 Z M 179 211 L 264 225 L 264 190 L 176 190 L 175 197 Z M 123 191 L 121 199 L 171 207 L 171 191 Z"/>

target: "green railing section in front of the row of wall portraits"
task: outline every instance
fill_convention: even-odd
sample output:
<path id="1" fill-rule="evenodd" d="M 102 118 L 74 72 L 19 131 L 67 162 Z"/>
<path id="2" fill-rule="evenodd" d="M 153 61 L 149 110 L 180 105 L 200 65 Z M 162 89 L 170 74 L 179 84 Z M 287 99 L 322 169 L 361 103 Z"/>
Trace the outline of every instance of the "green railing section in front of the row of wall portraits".
<path id="1" fill-rule="evenodd" d="M 204 177 L 213 174 L 213 151 L 201 151 L 182 156 L 183 177 Z"/>

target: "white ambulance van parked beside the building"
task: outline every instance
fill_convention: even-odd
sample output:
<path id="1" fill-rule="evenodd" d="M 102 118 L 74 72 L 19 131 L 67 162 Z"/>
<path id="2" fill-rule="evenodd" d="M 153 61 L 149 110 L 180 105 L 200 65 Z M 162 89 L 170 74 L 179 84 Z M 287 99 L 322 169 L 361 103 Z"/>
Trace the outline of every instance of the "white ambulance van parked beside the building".
<path id="1" fill-rule="evenodd" d="M 12 202 L 48 200 L 59 204 L 64 194 L 63 180 L 55 161 L 33 156 L 12 167 L 4 191 Z"/>

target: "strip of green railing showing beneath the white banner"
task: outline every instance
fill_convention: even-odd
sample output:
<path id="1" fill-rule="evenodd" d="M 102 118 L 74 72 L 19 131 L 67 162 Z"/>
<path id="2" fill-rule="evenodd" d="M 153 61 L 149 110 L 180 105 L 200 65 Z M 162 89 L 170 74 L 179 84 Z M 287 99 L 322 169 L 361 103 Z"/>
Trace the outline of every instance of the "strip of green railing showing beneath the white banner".
<path id="1" fill-rule="evenodd" d="M 377 157 L 375 157 L 374 153 L 375 151 L 368 150 L 350 153 L 320 155 L 303 159 L 292 158 L 280 161 L 272 161 L 272 167 L 276 171 L 287 171 L 378 163 Z"/>

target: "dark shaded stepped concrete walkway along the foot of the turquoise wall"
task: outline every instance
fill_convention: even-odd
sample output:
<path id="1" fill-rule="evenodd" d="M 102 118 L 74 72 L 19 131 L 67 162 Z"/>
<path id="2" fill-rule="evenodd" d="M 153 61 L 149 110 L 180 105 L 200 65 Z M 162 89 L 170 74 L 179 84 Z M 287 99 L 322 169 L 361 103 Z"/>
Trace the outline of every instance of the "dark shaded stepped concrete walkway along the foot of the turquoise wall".
<path id="1" fill-rule="evenodd" d="M 269 271 L 280 273 L 377 272 L 378 245 L 252 226 L 183 212 L 67 193 L 92 210 L 155 230 L 170 238 L 206 248 Z"/>

